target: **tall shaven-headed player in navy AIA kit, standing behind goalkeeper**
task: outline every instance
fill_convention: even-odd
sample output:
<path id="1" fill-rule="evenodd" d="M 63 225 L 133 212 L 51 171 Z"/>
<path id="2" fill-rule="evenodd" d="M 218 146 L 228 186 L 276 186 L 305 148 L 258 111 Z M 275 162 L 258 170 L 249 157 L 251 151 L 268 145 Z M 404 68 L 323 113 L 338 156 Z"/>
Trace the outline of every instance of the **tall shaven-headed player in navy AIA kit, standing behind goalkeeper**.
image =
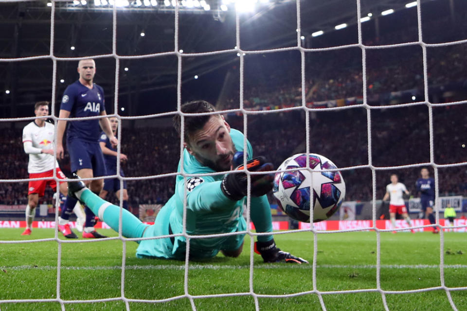
<path id="1" fill-rule="evenodd" d="M 79 79 L 69 85 L 63 93 L 60 105 L 59 118 L 79 118 L 106 116 L 104 90 L 93 83 L 96 73 L 96 65 L 93 59 L 83 59 L 78 63 Z M 100 125 L 100 127 L 99 127 Z M 67 121 L 59 120 L 57 123 L 57 157 L 63 158 L 63 136 L 67 127 Z M 67 130 L 67 148 L 70 154 L 72 172 L 76 172 L 81 178 L 105 176 L 106 167 L 104 157 L 99 146 L 99 133 L 101 129 L 108 135 L 110 142 L 117 145 L 117 138 L 113 136 L 108 118 L 80 120 L 70 122 Z M 103 179 L 87 180 L 90 190 L 99 194 L 102 190 Z M 65 208 L 58 218 L 58 229 L 67 238 L 77 238 L 67 224 L 70 214 L 77 200 L 67 197 Z M 106 238 L 94 230 L 95 215 L 85 207 L 86 224 L 83 238 Z"/>

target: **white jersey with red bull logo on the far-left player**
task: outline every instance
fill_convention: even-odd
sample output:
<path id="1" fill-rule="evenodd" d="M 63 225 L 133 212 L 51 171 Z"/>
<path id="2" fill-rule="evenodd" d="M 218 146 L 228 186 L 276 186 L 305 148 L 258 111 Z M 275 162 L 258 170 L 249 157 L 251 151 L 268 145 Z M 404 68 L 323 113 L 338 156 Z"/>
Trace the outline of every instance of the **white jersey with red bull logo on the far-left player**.
<path id="1" fill-rule="evenodd" d="M 33 147 L 40 149 L 54 149 L 55 127 L 49 122 L 39 127 L 34 121 L 23 128 L 23 143 L 31 141 Z M 29 154 L 28 173 L 43 173 L 58 167 L 53 155 Z"/>

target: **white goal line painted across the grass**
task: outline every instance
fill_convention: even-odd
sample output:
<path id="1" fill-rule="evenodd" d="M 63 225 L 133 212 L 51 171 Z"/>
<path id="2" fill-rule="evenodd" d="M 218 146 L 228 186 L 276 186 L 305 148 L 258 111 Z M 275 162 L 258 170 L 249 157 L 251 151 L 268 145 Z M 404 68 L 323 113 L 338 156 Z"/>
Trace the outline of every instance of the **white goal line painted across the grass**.
<path id="1" fill-rule="evenodd" d="M 317 268 L 323 269 L 376 269 L 376 265 L 317 265 Z M 439 268 L 439 265 L 429 265 L 429 264 L 414 264 L 414 265 L 404 265 L 404 264 L 389 264 L 385 265 L 382 264 L 380 266 L 383 269 L 436 269 Z M 311 265 L 301 264 L 260 264 L 254 265 L 254 269 L 311 269 Z M 450 264 L 444 265 L 444 268 L 447 269 L 466 269 L 466 264 Z M 21 265 L 21 266 L 3 266 L 0 267 L 1 270 L 56 270 L 56 266 L 33 266 L 33 265 Z M 62 270 L 121 270 L 122 266 L 83 266 L 83 267 L 76 267 L 76 266 L 62 266 Z M 185 266 L 183 265 L 175 265 L 175 264 L 168 264 L 168 265 L 128 265 L 125 267 L 126 270 L 164 270 L 164 269 L 172 269 L 172 270 L 185 270 Z M 209 270 L 221 270 L 221 269 L 250 269 L 250 265 L 201 265 L 201 264 L 193 264 L 189 267 L 190 270 L 201 270 L 201 269 L 209 269 Z"/>

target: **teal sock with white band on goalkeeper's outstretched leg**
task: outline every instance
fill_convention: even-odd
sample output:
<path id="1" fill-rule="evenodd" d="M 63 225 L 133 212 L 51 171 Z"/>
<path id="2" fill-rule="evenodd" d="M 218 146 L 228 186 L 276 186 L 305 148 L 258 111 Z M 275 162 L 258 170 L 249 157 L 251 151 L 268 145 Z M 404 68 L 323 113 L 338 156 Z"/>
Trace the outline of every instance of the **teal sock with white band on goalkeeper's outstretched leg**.
<path id="1" fill-rule="evenodd" d="M 118 232 L 120 207 L 108 203 L 98 195 L 92 193 L 89 189 L 81 191 L 80 193 L 76 193 L 80 201 L 86 204 L 93 213 L 97 214 L 99 218 L 113 230 Z M 124 237 L 141 238 L 147 226 L 148 225 L 144 225 L 135 215 L 126 209 L 122 210 L 122 235 Z"/>

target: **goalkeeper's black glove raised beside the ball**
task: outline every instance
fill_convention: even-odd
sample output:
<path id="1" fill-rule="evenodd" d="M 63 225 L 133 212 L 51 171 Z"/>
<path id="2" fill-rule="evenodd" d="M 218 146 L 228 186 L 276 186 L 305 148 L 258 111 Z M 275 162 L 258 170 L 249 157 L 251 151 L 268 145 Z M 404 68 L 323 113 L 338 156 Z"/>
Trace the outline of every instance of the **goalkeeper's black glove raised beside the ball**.
<path id="1" fill-rule="evenodd" d="M 262 156 L 255 157 L 247 162 L 247 169 L 250 172 L 272 171 L 272 164 L 265 163 L 266 159 Z M 243 170 L 244 165 L 239 165 L 235 170 Z M 258 197 L 272 190 L 273 174 L 251 175 L 251 195 Z M 247 195 L 247 174 L 230 173 L 227 174 L 220 185 L 220 189 L 226 197 L 233 201 L 238 201 Z"/>

